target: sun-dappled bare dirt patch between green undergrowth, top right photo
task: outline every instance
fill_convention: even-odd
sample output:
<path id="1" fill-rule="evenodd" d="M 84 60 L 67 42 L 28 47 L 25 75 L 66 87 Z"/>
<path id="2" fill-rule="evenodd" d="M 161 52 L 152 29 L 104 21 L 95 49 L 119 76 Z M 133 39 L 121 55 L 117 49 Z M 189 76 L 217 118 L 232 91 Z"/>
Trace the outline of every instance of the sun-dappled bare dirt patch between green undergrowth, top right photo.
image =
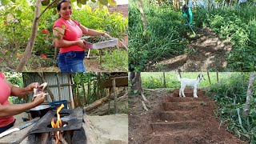
<path id="1" fill-rule="evenodd" d="M 155 64 L 150 71 L 181 69 L 182 71 L 224 70 L 227 66 L 226 54 L 231 50 L 229 42 L 221 41 L 209 28 L 198 31 L 190 40 L 188 53 L 165 59 Z"/>

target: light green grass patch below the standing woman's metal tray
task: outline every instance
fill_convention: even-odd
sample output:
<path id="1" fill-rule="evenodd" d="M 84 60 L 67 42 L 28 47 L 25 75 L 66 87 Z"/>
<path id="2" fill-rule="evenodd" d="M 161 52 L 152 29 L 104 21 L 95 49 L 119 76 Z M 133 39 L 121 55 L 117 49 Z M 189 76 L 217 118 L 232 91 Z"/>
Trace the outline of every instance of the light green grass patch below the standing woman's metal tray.
<path id="1" fill-rule="evenodd" d="M 128 54 L 125 50 L 106 50 L 102 62 L 104 69 L 128 71 Z"/>

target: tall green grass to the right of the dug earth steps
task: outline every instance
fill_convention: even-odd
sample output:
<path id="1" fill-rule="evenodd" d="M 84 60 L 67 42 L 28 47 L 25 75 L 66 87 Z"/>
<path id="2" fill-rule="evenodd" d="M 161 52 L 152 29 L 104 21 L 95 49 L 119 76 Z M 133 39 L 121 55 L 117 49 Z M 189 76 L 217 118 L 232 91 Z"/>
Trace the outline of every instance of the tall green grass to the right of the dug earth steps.
<path id="1" fill-rule="evenodd" d="M 242 140 L 256 142 L 256 98 L 255 91 L 250 103 L 248 118 L 242 117 L 246 103 L 246 90 L 249 82 L 248 73 L 231 74 L 221 82 L 210 86 L 207 94 L 218 103 L 216 114 L 221 122 L 228 126 L 230 132 Z M 255 83 L 254 83 L 255 86 Z"/>

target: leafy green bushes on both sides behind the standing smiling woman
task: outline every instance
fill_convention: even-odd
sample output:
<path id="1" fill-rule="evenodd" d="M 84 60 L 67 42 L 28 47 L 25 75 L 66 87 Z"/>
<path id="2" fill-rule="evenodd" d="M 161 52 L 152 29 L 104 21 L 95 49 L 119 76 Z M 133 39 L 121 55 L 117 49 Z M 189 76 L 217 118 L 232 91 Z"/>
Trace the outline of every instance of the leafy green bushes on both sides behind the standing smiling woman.
<path id="1" fill-rule="evenodd" d="M 31 69 L 30 66 L 35 65 L 34 61 L 37 61 L 39 66 L 40 63 L 49 62 L 46 65 L 43 64 L 43 66 L 54 66 L 56 63 L 53 59 L 54 46 L 52 39 L 54 37 L 52 26 L 58 19 L 58 14 L 53 14 L 56 6 L 52 7 L 54 8 L 46 10 L 39 19 L 38 34 L 32 51 L 34 59 L 27 64 L 28 70 Z M 41 12 L 44 8 L 46 6 L 42 6 Z M 0 23 L 2 23 L 0 25 L 0 48 L 6 50 L 6 53 L 0 53 L 0 57 L 7 59 L 9 69 L 13 70 L 22 58 L 28 38 L 30 38 L 34 18 L 34 1 L 10 2 L 3 6 L 0 13 Z M 106 7 L 91 10 L 90 6 L 84 6 L 81 10 L 73 9 L 73 18 L 88 28 L 107 32 L 115 38 L 122 38 L 122 34 L 126 33 L 128 25 L 128 18 L 123 18 L 122 14 L 119 13 L 110 14 Z M 45 54 L 47 58 L 52 60 L 47 61 L 41 58 L 40 54 Z M 40 60 L 44 62 L 39 62 Z"/>

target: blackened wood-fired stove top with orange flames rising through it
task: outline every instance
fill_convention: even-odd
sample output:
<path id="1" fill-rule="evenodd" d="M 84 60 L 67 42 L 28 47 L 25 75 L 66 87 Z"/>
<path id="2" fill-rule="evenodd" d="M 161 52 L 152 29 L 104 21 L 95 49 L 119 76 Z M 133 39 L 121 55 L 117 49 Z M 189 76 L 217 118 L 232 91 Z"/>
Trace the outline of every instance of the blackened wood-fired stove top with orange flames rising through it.
<path id="1" fill-rule="evenodd" d="M 50 110 L 31 128 L 28 143 L 85 144 L 83 114 L 82 108 L 66 110 L 60 106 L 57 110 Z"/>

